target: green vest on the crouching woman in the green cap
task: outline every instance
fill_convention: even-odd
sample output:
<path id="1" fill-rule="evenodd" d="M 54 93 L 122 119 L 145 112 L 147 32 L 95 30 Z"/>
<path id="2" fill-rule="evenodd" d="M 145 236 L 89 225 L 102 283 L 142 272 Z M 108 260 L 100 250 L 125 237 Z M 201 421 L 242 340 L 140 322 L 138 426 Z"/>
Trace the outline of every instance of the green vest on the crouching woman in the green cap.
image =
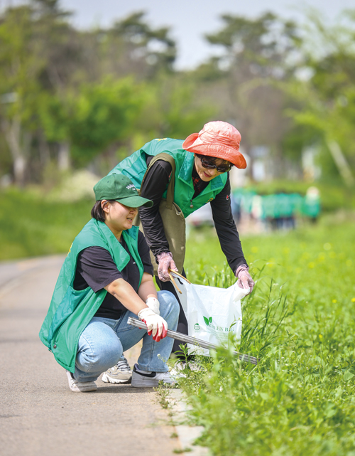
<path id="1" fill-rule="evenodd" d="M 143 263 L 138 255 L 138 228 L 133 227 L 122 233 L 124 241 L 138 266 L 140 281 Z M 77 267 L 77 255 L 84 248 L 97 246 L 109 251 L 119 270 L 129 263 L 129 254 L 114 237 L 109 227 L 92 218 L 82 228 L 70 247 L 67 258 L 55 285 L 52 301 L 40 329 L 40 340 L 53 351 L 60 366 L 70 372 L 75 370 L 75 357 L 80 335 L 101 306 L 106 290 L 94 292 L 90 287 L 74 290 L 72 287 Z"/>

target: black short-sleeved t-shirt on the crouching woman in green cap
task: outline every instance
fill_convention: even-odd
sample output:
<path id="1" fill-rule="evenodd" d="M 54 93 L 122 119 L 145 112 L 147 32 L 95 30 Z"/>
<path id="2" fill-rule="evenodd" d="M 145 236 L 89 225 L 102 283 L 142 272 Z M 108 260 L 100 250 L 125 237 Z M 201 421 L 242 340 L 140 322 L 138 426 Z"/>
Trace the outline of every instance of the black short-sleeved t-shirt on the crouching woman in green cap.
<path id="1" fill-rule="evenodd" d="M 121 271 L 117 269 L 108 250 L 102 247 L 88 247 L 82 250 L 77 257 L 77 269 L 73 285 L 75 290 L 84 290 L 90 287 L 96 293 L 109 285 L 109 283 L 114 282 L 114 280 L 124 279 L 137 292 L 139 285 L 138 266 L 133 260 L 123 238 L 121 238 L 121 245 L 129 253 L 129 263 Z M 143 263 L 144 272 L 153 275 L 149 248 L 141 231 L 138 232 L 138 253 Z M 108 292 L 95 317 L 116 320 L 119 319 L 121 313 L 125 310 L 124 304 L 121 304 L 116 297 Z"/>

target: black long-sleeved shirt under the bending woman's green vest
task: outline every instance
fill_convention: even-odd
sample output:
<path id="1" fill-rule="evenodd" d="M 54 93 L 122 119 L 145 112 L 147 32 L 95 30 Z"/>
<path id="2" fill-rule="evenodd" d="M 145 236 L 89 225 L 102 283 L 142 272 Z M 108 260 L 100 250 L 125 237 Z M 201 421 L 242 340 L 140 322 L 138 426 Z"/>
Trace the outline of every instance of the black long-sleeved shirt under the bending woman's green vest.
<path id="1" fill-rule="evenodd" d="M 147 157 L 147 166 L 152 158 L 153 157 L 150 156 Z M 151 169 L 149 169 L 141 186 L 141 196 L 153 201 L 153 206 L 151 208 L 141 206 L 138 211 L 147 243 L 151 248 L 153 255 L 155 255 L 155 258 L 159 253 L 169 251 L 169 244 L 165 237 L 163 221 L 161 220 L 159 213 L 159 204 L 164 191 L 167 189 L 171 171 L 172 168 L 168 161 L 157 160 Z M 193 198 L 196 198 L 196 196 L 209 184 L 208 182 L 199 179 L 195 169 L 192 171 L 192 182 L 195 190 Z M 247 263 L 241 248 L 239 233 L 231 213 L 231 184 L 229 181 L 229 173 L 224 189 L 217 193 L 210 204 L 219 243 L 221 244 L 224 255 L 226 255 L 229 267 L 231 267 L 233 272 L 236 272 L 236 269 L 240 265 L 246 265 Z"/>

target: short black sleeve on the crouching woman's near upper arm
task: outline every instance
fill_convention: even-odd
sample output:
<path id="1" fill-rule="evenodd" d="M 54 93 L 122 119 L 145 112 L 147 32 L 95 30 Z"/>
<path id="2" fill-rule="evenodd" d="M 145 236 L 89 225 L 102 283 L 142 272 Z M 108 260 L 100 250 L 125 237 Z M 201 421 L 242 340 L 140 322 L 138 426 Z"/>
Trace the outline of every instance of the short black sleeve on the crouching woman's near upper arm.
<path id="1" fill-rule="evenodd" d="M 120 278 L 122 278 L 121 272 L 105 248 L 88 247 L 77 256 L 77 270 L 73 285 L 75 290 L 83 290 L 89 286 L 96 293 Z"/>

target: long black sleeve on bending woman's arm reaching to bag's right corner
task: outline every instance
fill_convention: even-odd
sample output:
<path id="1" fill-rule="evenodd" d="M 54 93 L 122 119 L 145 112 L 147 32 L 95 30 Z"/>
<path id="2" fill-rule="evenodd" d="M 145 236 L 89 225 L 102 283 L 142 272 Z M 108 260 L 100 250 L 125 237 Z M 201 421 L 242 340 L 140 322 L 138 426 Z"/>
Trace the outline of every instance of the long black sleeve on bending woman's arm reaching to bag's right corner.
<path id="1" fill-rule="evenodd" d="M 224 189 L 211 201 L 212 216 L 216 227 L 219 243 L 226 255 L 229 267 L 235 273 L 240 265 L 246 265 L 246 259 L 241 248 L 239 233 L 231 214 L 231 184 L 228 179 Z"/>

